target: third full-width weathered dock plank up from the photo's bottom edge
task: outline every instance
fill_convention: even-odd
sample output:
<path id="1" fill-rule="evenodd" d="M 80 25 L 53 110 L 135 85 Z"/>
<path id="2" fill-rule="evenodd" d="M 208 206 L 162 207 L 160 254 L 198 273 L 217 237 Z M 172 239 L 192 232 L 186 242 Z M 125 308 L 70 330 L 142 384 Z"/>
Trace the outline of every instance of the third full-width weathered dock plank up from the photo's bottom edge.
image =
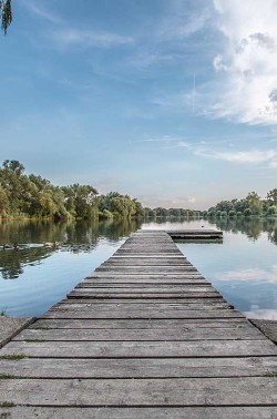
<path id="1" fill-rule="evenodd" d="M 11 375 L 21 378 L 257 377 L 276 372 L 276 357 L 208 359 L 0 359 L 1 375 Z"/>

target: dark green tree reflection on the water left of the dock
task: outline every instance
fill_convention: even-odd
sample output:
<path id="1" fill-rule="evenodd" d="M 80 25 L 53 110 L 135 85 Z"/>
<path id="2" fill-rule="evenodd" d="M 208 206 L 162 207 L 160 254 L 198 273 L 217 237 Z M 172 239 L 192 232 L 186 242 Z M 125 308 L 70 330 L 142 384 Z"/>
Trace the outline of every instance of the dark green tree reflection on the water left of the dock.
<path id="1" fill-rule="evenodd" d="M 0 273 L 3 279 L 17 279 L 27 265 L 38 265 L 58 252 L 90 253 L 101 239 L 114 244 L 141 227 L 137 221 L 63 222 L 19 221 L 0 224 L 0 243 L 17 243 L 17 249 L 0 249 Z M 58 243 L 44 247 L 43 243 Z"/>

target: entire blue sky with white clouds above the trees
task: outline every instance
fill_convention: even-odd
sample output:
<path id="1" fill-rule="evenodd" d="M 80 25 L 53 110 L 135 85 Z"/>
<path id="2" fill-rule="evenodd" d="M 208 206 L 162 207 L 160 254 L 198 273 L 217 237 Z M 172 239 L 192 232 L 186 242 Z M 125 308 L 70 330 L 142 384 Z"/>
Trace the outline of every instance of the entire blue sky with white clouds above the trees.
<path id="1" fill-rule="evenodd" d="M 13 0 L 1 162 L 146 206 L 277 187 L 275 0 Z"/>

